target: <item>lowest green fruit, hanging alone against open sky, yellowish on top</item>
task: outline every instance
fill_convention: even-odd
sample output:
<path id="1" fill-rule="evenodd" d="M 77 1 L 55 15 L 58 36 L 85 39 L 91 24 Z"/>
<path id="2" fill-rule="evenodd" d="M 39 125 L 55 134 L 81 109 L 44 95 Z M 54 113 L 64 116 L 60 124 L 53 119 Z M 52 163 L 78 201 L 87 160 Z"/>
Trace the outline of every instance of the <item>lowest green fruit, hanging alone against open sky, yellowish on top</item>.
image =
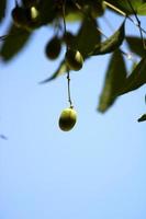
<path id="1" fill-rule="evenodd" d="M 72 129 L 77 122 L 77 112 L 74 108 L 65 108 L 59 117 L 59 128 L 64 131 Z"/>

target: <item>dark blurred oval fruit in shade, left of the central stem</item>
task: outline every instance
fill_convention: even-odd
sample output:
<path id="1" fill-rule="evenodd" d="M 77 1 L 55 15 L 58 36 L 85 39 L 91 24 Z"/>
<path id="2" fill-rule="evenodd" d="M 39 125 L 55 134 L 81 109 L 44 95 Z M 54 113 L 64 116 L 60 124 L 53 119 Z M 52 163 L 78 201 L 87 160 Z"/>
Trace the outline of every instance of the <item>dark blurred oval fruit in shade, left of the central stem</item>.
<path id="1" fill-rule="evenodd" d="M 60 39 L 55 36 L 53 37 L 45 47 L 45 54 L 49 59 L 56 59 L 59 56 L 61 49 Z"/>

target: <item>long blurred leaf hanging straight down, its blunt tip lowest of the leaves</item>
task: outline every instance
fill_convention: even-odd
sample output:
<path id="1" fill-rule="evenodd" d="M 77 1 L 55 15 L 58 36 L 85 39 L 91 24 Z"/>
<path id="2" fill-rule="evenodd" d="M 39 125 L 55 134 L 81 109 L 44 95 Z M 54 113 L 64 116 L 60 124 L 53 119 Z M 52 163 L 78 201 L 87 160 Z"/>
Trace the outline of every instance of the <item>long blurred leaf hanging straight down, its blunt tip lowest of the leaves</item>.
<path id="1" fill-rule="evenodd" d="M 122 53 L 117 49 L 113 53 L 108 66 L 104 87 L 98 106 L 99 112 L 104 113 L 115 102 L 125 79 L 125 62 Z"/>

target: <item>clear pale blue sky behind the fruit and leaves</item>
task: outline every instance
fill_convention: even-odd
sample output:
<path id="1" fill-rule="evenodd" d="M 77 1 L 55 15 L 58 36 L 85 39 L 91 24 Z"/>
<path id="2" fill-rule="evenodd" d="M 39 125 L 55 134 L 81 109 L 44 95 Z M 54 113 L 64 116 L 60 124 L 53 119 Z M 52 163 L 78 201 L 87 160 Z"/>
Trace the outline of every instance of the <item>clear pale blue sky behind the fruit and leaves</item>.
<path id="1" fill-rule="evenodd" d="M 122 22 L 105 16 L 114 30 Z M 142 24 L 146 28 L 144 18 Z M 136 31 L 130 22 L 126 27 L 126 33 Z M 44 55 L 52 35 L 50 27 L 43 27 L 9 65 L 1 62 L 0 132 L 8 140 L 0 139 L 0 219 L 145 219 L 146 124 L 136 122 L 146 112 L 145 88 L 98 113 L 109 55 L 91 58 L 71 72 L 78 122 L 71 131 L 61 131 L 66 77 L 38 84 L 58 65 Z"/>

